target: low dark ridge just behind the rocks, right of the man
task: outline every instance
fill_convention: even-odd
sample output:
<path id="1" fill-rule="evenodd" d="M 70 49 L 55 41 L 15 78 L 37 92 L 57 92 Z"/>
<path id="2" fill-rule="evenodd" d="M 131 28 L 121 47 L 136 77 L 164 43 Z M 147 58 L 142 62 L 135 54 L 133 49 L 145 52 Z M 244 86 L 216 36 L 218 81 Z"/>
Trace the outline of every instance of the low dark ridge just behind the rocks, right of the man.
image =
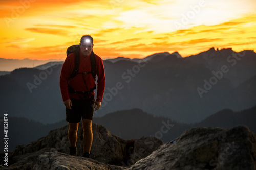
<path id="1" fill-rule="evenodd" d="M 124 139 L 152 135 L 167 142 L 180 136 L 184 130 L 193 127 L 232 128 L 238 125 L 245 125 L 255 133 L 255 112 L 256 106 L 240 112 L 224 109 L 199 123 L 184 124 L 167 117 L 154 117 L 140 109 L 132 109 L 121 110 L 100 118 L 94 118 L 94 122 L 105 126 L 112 134 Z"/>

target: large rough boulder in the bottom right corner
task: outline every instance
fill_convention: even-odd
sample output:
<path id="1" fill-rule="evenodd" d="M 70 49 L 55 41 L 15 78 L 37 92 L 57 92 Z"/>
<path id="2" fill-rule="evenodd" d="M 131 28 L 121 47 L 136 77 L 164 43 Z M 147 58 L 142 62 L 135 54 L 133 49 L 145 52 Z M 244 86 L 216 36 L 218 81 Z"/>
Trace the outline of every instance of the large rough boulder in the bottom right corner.
<path id="1" fill-rule="evenodd" d="M 254 170 L 256 135 L 245 126 L 193 128 L 162 145 L 129 169 Z"/>

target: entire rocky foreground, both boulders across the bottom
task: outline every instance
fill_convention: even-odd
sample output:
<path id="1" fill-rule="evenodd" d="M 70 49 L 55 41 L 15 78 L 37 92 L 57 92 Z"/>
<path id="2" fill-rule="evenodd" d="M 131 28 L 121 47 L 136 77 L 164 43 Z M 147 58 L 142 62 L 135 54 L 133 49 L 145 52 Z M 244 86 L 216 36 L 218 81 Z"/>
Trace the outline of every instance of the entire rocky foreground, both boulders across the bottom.
<path id="1" fill-rule="evenodd" d="M 256 169 L 256 135 L 246 126 L 193 128 L 163 144 L 155 137 L 123 140 L 93 124 L 93 159 L 81 157 L 81 124 L 78 156 L 68 155 L 67 131 L 65 126 L 28 145 L 19 145 L 9 154 L 10 166 L 2 169 Z"/>

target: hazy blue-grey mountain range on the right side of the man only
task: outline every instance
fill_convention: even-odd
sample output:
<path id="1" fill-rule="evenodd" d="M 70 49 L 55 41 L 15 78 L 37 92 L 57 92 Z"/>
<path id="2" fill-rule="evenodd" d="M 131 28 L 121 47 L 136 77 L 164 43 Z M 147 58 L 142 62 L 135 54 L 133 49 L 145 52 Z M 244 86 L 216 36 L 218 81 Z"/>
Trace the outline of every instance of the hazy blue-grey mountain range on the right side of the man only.
<path id="1" fill-rule="evenodd" d="M 253 107 L 256 53 L 243 51 L 244 57 L 234 64 L 230 56 L 238 54 L 231 49 L 211 48 L 186 58 L 156 54 L 140 64 L 107 60 L 105 97 L 98 113 L 136 107 L 155 116 L 191 123 L 223 109 Z M 123 88 L 116 88 L 118 82 Z"/>

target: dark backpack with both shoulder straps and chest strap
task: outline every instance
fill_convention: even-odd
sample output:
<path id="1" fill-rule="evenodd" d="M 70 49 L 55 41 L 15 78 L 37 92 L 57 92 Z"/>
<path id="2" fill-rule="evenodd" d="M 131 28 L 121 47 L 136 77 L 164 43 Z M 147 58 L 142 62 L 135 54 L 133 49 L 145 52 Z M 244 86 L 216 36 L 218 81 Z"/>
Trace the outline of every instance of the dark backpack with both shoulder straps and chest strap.
<path id="1" fill-rule="evenodd" d="M 94 81 L 96 80 L 96 59 L 93 51 L 91 52 L 90 55 L 90 60 L 91 60 L 91 72 L 78 72 L 79 70 L 79 62 L 80 62 L 80 46 L 79 45 L 72 45 L 68 47 L 67 49 L 67 56 L 70 55 L 71 53 L 75 53 L 75 67 L 70 75 L 70 79 L 75 77 L 77 74 L 92 74 Z"/>

